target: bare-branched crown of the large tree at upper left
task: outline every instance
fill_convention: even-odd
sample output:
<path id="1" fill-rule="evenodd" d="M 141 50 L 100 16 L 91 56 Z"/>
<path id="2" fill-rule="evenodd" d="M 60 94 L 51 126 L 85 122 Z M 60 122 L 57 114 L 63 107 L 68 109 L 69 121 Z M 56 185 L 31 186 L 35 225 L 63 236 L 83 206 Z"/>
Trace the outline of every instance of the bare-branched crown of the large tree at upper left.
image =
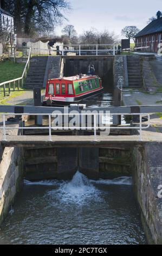
<path id="1" fill-rule="evenodd" d="M 2 8 L 15 16 L 17 34 L 41 34 L 53 31 L 70 9 L 67 0 L 3 0 Z"/>

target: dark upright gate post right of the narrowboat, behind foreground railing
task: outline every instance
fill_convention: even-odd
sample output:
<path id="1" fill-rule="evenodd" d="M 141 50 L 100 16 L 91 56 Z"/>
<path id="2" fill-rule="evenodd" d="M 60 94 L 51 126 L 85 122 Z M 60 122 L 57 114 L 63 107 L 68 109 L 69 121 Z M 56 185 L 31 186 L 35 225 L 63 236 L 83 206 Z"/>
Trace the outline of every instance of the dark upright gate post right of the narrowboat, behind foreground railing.
<path id="1" fill-rule="evenodd" d="M 114 107 L 121 107 L 122 90 L 114 89 Z M 121 125 L 121 115 L 113 115 L 113 125 Z"/>

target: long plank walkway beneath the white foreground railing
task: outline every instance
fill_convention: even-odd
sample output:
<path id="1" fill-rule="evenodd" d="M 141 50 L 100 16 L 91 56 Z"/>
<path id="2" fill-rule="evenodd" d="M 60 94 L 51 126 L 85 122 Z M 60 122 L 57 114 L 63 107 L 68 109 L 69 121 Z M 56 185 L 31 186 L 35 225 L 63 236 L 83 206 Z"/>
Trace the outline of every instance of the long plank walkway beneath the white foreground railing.
<path id="1" fill-rule="evenodd" d="M 48 136 L 7 136 L 7 141 L 1 144 L 4 147 L 131 147 L 146 142 L 162 143 L 162 134 L 142 136 L 143 141 L 139 141 L 139 136 L 98 136 L 98 141 L 93 141 L 94 136 L 52 136 L 52 139 L 49 141 Z"/>

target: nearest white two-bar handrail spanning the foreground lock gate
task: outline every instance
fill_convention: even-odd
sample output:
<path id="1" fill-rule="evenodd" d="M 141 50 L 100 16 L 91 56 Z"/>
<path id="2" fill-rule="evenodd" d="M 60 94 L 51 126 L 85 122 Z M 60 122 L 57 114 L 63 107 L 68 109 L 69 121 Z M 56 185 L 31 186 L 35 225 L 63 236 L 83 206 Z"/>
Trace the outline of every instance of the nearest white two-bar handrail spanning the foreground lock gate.
<path id="1" fill-rule="evenodd" d="M 32 115 L 46 115 L 49 118 L 49 126 L 39 126 L 39 127 L 35 127 L 35 126 L 30 126 L 30 127 L 7 127 L 5 124 L 5 117 L 7 115 L 31 115 L 30 113 L 3 113 L 2 117 L 3 117 L 3 126 L 0 126 L 0 129 L 3 130 L 3 141 L 7 141 L 7 137 L 6 137 L 6 130 L 30 130 L 30 129 L 49 129 L 49 141 L 52 141 L 52 137 L 51 137 L 51 130 L 67 130 L 67 129 L 71 129 L 71 130 L 87 130 L 87 129 L 93 129 L 94 130 L 94 140 L 93 141 L 97 141 L 96 138 L 96 130 L 101 130 L 101 127 L 98 127 L 96 125 L 96 117 L 99 115 L 102 115 L 103 117 L 105 117 L 107 114 L 108 117 L 110 117 L 111 115 L 139 115 L 140 116 L 140 124 L 139 126 L 103 126 L 104 129 L 136 129 L 139 130 L 139 141 L 142 141 L 142 130 L 143 129 L 148 129 L 148 127 L 150 127 L 150 114 L 148 113 L 48 113 L 48 114 L 42 114 L 42 113 L 32 113 Z M 53 117 L 54 115 L 68 115 L 69 117 L 72 117 L 72 115 L 91 115 L 94 117 L 94 124 L 93 126 L 74 126 L 74 127 L 69 127 L 69 126 L 62 126 L 62 127 L 52 127 L 51 126 L 51 117 Z M 71 116 L 70 116 L 71 115 Z M 146 117 L 148 118 L 148 125 L 147 126 L 142 126 L 142 117 Z M 103 128 L 102 127 L 102 128 Z"/>

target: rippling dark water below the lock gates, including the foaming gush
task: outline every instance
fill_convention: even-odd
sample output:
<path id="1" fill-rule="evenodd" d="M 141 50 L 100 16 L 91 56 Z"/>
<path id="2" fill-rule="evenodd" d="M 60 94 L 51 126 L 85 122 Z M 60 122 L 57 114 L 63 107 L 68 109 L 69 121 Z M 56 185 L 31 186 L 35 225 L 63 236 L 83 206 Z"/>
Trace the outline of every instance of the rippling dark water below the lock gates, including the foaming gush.
<path id="1" fill-rule="evenodd" d="M 0 230 L 0 244 L 146 243 L 131 178 L 25 181 Z"/>

